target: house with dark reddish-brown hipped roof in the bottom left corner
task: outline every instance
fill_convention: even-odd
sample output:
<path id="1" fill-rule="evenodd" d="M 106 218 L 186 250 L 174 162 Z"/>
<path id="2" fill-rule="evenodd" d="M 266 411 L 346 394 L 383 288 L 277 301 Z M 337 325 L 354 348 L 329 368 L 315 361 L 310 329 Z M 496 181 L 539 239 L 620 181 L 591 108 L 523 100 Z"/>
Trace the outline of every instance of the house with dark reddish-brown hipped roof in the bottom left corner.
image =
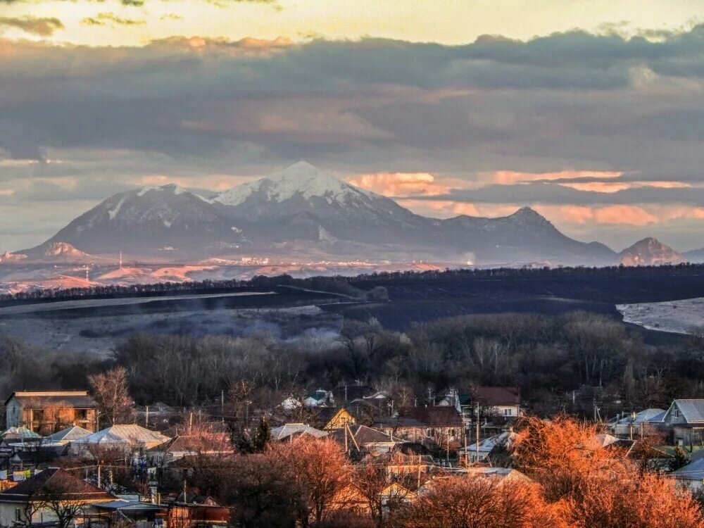
<path id="1" fill-rule="evenodd" d="M 49 467 L 0 493 L 0 526 L 50 524 L 56 522 L 58 513 L 73 517 L 72 524 L 78 524 L 84 515 L 97 513 L 97 504 L 115 499 L 68 471 Z"/>

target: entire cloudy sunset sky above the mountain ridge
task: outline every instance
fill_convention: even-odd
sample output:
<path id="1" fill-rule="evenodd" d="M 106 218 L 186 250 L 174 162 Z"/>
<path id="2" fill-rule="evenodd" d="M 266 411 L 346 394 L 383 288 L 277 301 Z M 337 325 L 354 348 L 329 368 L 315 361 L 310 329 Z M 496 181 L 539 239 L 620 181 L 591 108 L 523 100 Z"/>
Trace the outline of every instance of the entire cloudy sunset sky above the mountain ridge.
<path id="1" fill-rule="evenodd" d="M 0 0 L 0 251 L 304 159 L 417 213 L 704 246 L 704 0 Z"/>

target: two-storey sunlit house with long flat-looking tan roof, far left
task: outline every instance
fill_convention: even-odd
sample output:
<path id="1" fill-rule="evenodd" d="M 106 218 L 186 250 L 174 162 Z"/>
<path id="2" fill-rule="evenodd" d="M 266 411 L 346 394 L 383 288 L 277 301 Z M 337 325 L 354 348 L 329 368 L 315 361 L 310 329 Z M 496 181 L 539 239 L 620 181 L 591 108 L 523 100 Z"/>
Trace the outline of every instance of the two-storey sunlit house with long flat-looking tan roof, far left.
<path id="1" fill-rule="evenodd" d="M 98 404 L 88 391 L 13 392 L 5 402 L 5 424 L 42 433 L 69 425 L 96 432 Z"/>

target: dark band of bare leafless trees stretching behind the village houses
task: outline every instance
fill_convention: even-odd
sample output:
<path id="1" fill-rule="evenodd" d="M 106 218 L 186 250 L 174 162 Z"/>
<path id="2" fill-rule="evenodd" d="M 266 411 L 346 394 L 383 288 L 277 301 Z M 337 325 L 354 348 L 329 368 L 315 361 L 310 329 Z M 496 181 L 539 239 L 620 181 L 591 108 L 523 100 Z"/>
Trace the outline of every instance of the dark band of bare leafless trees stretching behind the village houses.
<path id="1" fill-rule="evenodd" d="M 536 412 L 591 415 L 593 399 L 617 410 L 667 408 L 673 398 L 704 396 L 704 334 L 677 345 L 648 346 L 603 315 L 572 312 L 463 315 L 414 325 L 407 332 L 377 320 L 344 320 L 336 338 L 134 334 L 106 358 L 28 346 L 0 336 L 0 390 L 86 386 L 114 367 L 127 372 L 140 404 L 214 404 L 246 386 L 253 408 L 320 387 L 364 383 L 414 396 L 473 386 L 518 386 Z M 577 394 L 577 397 L 575 397 Z M 570 398 L 570 395 L 572 398 Z"/>

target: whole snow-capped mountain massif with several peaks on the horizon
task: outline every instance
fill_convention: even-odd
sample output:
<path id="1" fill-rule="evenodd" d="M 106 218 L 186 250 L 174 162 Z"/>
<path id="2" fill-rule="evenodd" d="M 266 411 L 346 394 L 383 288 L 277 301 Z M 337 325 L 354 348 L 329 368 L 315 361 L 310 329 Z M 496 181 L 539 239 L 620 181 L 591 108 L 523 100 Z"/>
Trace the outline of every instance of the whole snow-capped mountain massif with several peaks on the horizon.
<path id="1" fill-rule="evenodd" d="M 596 265 L 616 258 L 602 244 L 566 237 L 530 208 L 503 218 L 426 218 L 306 162 L 210 198 L 175 185 L 115 194 L 25 253 L 60 243 L 94 256 L 191 261 L 258 254 Z"/>

